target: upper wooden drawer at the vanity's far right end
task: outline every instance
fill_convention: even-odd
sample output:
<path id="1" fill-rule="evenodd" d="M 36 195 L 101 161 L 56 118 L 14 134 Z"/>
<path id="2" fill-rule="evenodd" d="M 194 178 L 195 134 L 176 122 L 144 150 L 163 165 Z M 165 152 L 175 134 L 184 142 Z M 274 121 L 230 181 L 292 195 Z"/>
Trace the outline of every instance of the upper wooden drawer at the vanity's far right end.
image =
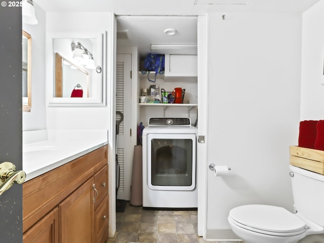
<path id="1" fill-rule="evenodd" d="M 100 171 L 95 174 L 95 210 L 98 208 L 102 199 L 108 193 L 108 165 L 104 166 Z M 96 195 L 97 193 L 97 195 Z"/>

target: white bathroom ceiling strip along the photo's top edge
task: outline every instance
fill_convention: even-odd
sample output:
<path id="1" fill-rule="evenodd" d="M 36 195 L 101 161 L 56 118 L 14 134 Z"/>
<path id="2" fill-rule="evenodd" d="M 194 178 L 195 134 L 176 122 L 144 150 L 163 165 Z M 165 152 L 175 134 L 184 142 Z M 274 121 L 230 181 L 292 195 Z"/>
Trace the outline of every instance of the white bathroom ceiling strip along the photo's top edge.
<path id="1" fill-rule="evenodd" d="M 323 0 L 34 0 L 46 12 L 113 12 L 117 15 L 198 15 L 208 12 L 302 13 L 319 1 Z"/>

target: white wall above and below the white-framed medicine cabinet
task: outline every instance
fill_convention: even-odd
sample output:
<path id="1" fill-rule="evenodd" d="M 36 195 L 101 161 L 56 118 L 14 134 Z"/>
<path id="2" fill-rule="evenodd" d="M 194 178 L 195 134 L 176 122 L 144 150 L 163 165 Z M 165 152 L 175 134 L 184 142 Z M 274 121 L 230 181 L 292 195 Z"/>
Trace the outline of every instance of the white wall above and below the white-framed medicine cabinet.
<path id="1" fill-rule="evenodd" d="M 48 32 L 97 32 L 112 33 L 111 13 L 48 13 Z M 77 36 L 76 36 L 77 37 Z M 108 37 L 109 39 L 109 37 Z M 110 44 L 111 45 L 111 44 Z M 47 50 L 51 52 L 51 50 Z M 108 53 L 108 60 L 111 53 Z M 103 72 L 110 75 L 109 69 L 103 67 Z M 48 67 L 52 68 L 52 67 Z M 53 86 L 53 78 L 47 76 L 47 87 Z M 104 80 L 104 83 L 106 80 Z M 109 79 L 110 84 L 110 79 Z M 109 86 L 108 84 L 108 86 Z M 110 92 L 110 89 L 109 89 Z M 108 97 L 110 95 L 108 94 Z M 110 103 L 108 101 L 107 107 Z M 102 107 L 48 107 L 47 128 L 48 129 L 108 129 L 110 124 L 110 113 L 106 106 Z"/>

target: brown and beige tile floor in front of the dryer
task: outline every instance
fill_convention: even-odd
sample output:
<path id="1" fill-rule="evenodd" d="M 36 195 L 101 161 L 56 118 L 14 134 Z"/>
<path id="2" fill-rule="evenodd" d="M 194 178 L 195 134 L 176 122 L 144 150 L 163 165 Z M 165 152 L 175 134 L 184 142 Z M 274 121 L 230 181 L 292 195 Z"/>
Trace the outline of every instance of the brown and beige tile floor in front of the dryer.
<path id="1" fill-rule="evenodd" d="M 128 202 L 125 212 L 116 213 L 116 233 L 108 243 L 130 242 L 218 243 L 197 236 L 197 211 L 143 210 Z"/>

